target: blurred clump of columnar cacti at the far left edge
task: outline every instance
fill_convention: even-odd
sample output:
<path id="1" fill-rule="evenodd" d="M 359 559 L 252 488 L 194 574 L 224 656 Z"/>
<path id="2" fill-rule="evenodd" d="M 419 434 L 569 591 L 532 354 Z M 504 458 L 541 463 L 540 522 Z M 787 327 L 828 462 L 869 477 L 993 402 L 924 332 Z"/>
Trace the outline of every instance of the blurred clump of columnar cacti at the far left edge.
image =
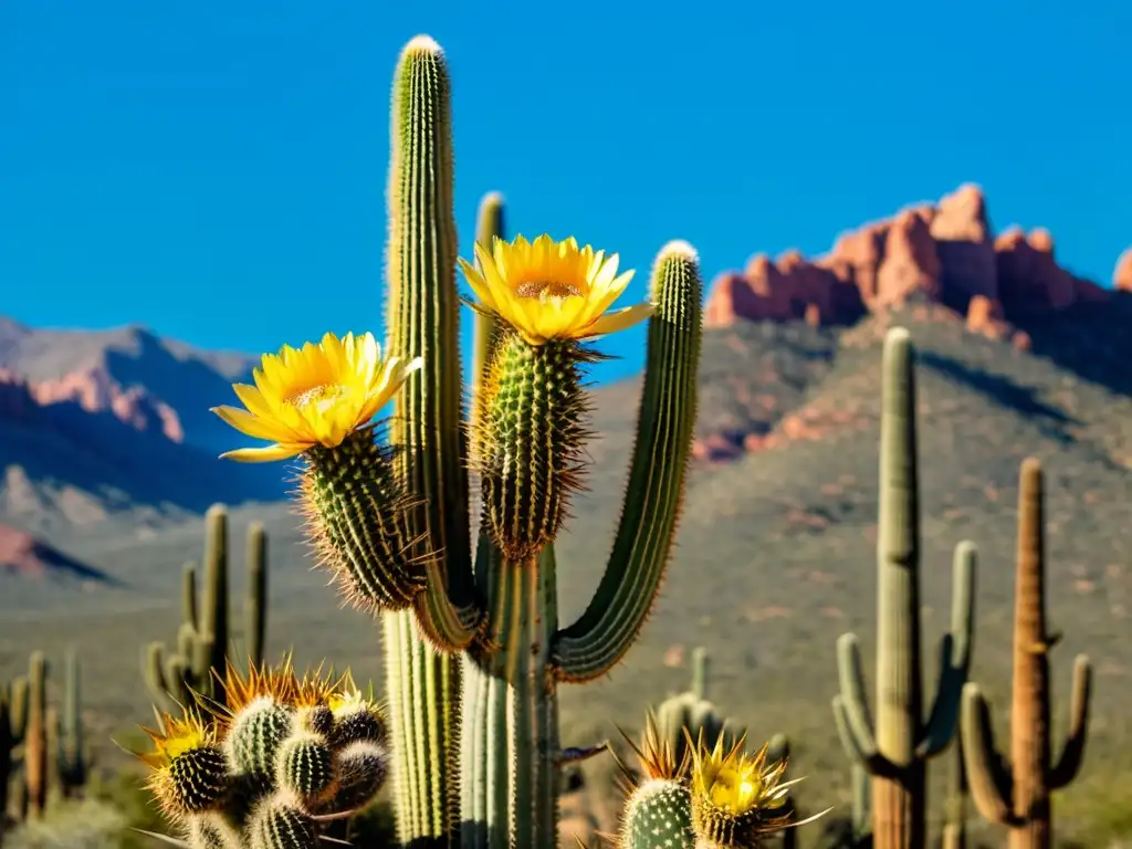
<path id="1" fill-rule="evenodd" d="M 88 778 L 75 651 L 66 655 L 62 711 L 48 703 L 48 671 L 43 652 L 33 652 L 27 675 L 0 688 L 0 838 L 6 814 L 37 820 L 51 799 L 74 796 Z"/>

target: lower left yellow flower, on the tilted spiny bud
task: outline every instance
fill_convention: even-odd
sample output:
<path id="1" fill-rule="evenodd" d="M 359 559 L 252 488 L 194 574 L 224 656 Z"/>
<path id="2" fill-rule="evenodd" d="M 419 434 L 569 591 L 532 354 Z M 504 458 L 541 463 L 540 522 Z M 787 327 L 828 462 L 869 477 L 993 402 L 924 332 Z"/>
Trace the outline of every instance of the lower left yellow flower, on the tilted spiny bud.
<path id="1" fill-rule="evenodd" d="M 256 385 L 234 384 L 247 408 L 216 406 L 212 412 L 233 428 L 273 444 L 238 448 L 221 457 L 246 463 L 285 460 L 317 445 L 333 448 L 365 426 L 388 403 L 405 377 L 421 366 L 381 358 L 371 333 L 338 338 L 333 333 L 301 349 L 284 345 L 264 354 L 252 371 Z"/>

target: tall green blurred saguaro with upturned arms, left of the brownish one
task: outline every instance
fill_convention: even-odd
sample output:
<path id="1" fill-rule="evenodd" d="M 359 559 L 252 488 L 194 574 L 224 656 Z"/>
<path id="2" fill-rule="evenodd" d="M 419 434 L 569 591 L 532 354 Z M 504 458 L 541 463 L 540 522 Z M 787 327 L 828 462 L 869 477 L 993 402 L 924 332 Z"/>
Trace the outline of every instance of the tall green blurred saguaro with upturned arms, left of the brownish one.
<path id="1" fill-rule="evenodd" d="M 914 361 L 908 332 L 889 331 L 881 410 L 875 724 L 854 634 L 838 641 L 840 694 L 833 700 L 846 751 L 873 777 L 877 849 L 925 843 L 927 761 L 942 753 L 954 735 L 971 652 L 976 556 L 974 546 L 964 542 L 955 548 L 951 632 L 943 637 L 940 680 L 925 721 Z"/>

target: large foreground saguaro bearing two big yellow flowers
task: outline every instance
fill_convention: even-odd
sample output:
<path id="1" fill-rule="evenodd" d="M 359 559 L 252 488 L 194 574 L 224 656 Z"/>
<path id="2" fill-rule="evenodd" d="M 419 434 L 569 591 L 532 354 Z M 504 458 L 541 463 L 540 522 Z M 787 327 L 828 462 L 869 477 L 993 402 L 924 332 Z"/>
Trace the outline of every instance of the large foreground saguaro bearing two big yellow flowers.
<path id="1" fill-rule="evenodd" d="M 657 259 L 650 302 L 610 310 L 632 276 L 617 274 L 616 255 L 549 235 L 480 246 L 479 268 L 462 268 L 474 309 L 498 321 L 465 430 L 449 98 L 439 46 L 413 38 L 393 88 L 388 355 L 371 334 L 284 346 L 264 357 L 271 379 L 235 387 L 246 410 L 215 411 L 275 440 L 224 456 L 302 455 L 300 498 L 323 563 L 354 603 L 383 611 L 387 633 L 402 629 L 394 662 L 409 668 L 393 675 L 435 679 L 412 691 L 394 685 L 405 709 L 395 721 L 412 735 L 411 745 L 396 746 L 397 792 L 417 794 L 412 809 L 431 817 L 410 833 L 445 831 L 454 794 L 436 772 L 422 779 L 426 764 L 443 772 L 448 763 L 461 701 L 454 668 L 409 643 L 415 628 L 432 649 L 463 655 L 462 842 L 549 846 L 559 770 L 593 751 L 559 746 L 557 686 L 600 677 L 620 660 L 668 561 L 695 419 L 702 285 L 695 251 L 671 242 Z M 614 550 L 589 608 L 559 628 L 550 543 L 580 483 L 589 436 L 581 377 L 599 354 L 585 342 L 650 315 Z M 385 446 L 370 420 L 391 398 Z M 482 495 L 474 547 L 472 464 Z M 389 612 L 410 610 L 411 619 Z M 438 696 L 445 687 L 452 697 Z M 419 723 L 406 730 L 410 706 Z"/>

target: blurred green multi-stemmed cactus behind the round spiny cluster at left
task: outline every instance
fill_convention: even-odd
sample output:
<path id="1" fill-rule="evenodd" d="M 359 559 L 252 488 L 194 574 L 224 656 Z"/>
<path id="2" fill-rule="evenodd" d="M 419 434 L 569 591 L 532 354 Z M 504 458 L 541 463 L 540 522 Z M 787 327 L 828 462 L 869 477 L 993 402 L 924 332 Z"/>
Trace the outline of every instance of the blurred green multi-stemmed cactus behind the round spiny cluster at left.
<path id="1" fill-rule="evenodd" d="M 231 650 L 228 558 L 228 509 L 215 504 L 205 515 L 204 597 L 198 595 L 197 566 L 186 564 L 175 650 L 169 652 L 160 642 L 146 648 L 143 668 L 146 686 L 163 711 L 177 713 L 192 703 L 194 693 L 224 697 L 215 680 L 216 676 L 223 676 Z M 267 538 L 259 523 L 248 526 L 245 568 L 243 650 L 248 658 L 239 660 L 259 663 L 267 628 Z"/>

